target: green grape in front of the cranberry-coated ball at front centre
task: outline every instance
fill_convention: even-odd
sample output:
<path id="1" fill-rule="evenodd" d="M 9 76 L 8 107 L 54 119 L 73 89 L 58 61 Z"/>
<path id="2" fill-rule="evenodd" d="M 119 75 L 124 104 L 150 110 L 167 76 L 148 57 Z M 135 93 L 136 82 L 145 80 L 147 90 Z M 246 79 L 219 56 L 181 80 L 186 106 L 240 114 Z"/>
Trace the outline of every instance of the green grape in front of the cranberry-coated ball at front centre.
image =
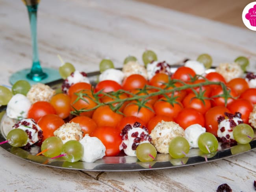
<path id="1" fill-rule="evenodd" d="M 136 155 L 139 161 L 148 162 L 156 158 L 156 148 L 150 143 L 141 143 L 136 148 Z"/>

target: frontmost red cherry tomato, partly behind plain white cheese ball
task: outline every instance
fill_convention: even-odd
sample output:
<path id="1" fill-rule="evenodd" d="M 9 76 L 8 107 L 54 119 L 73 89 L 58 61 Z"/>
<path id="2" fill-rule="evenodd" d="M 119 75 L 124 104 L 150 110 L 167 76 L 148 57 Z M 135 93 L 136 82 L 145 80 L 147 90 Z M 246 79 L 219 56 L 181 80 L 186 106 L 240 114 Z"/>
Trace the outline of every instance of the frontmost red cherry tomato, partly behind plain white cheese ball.
<path id="1" fill-rule="evenodd" d="M 106 156 L 116 156 L 120 153 L 119 146 L 122 143 L 120 131 L 115 127 L 102 126 L 97 127 L 93 133 L 93 137 L 97 137 L 106 147 Z"/>

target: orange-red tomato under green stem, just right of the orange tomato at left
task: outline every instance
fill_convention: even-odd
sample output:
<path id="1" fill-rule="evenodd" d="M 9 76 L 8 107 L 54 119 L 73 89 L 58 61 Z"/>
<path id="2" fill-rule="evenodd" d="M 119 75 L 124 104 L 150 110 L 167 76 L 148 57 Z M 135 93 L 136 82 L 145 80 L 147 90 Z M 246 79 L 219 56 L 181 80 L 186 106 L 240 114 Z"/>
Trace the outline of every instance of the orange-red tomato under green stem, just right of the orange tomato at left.
<path id="1" fill-rule="evenodd" d="M 91 95 L 91 91 L 83 91 L 83 93 L 87 94 L 87 95 L 83 95 L 82 93 L 80 93 L 81 98 L 79 98 L 78 95 L 73 94 L 73 96 L 71 97 L 71 111 L 75 111 L 76 110 L 82 110 L 82 109 L 92 109 L 93 107 L 95 107 L 97 104 L 95 103 L 95 98 Z M 91 117 L 93 115 L 94 110 L 92 111 L 85 111 L 80 113 L 80 116 L 88 116 Z"/>

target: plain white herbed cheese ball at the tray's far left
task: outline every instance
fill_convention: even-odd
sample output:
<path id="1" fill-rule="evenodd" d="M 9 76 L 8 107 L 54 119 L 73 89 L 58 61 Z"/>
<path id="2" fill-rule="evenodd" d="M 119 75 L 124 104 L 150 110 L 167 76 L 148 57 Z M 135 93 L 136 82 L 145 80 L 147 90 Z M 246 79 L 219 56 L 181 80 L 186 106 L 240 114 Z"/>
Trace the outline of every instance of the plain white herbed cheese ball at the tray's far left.
<path id="1" fill-rule="evenodd" d="M 6 114 L 9 118 L 21 120 L 28 117 L 31 102 L 23 94 L 15 94 L 7 104 Z"/>

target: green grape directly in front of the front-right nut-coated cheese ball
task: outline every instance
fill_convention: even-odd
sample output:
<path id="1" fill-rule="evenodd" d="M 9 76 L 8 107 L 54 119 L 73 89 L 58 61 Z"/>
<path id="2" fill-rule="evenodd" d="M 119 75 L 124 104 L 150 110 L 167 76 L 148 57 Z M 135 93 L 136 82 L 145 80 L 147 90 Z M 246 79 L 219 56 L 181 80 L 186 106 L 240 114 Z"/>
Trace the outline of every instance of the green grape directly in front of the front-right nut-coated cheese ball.
<path id="1" fill-rule="evenodd" d="M 169 154 L 174 159 L 185 157 L 188 152 L 189 142 L 184 137 L 174 137 L 169 143 Z"/>

